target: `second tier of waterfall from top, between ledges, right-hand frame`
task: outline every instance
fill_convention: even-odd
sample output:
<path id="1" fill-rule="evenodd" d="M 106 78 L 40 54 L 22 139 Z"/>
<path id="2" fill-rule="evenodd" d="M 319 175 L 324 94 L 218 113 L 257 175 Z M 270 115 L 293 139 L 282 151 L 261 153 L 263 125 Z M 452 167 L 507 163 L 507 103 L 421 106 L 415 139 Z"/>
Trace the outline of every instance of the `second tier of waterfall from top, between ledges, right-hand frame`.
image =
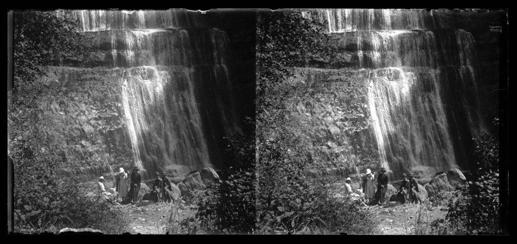
<path id="1" fill-rule="evenodd" d="M 462 29 L 353 31 L 332 39 L 345 64 L 361 68 L 474 67 L 477 61 L 474 37 Z"/>

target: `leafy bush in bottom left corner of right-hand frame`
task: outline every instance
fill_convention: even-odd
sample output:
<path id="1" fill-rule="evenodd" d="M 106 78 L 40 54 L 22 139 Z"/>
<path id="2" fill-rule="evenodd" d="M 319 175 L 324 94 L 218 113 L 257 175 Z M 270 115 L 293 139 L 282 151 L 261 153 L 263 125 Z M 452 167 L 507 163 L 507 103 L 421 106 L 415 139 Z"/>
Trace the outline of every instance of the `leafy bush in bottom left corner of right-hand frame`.
<path id="1" fill-rule="evenodd" d="M 272 140 L 259 144 L 264 151 L 258 152 L 258 233 L 376 233 L 377 224 L 371 212 L 363 212 L 353 201 L 338 198 L 325 180 L 303 176 L 307 161 L 293 149 L 286 150 L 289 144 L 282 144 Z M 282 151 L 290 153 L 281 155 Z"/>

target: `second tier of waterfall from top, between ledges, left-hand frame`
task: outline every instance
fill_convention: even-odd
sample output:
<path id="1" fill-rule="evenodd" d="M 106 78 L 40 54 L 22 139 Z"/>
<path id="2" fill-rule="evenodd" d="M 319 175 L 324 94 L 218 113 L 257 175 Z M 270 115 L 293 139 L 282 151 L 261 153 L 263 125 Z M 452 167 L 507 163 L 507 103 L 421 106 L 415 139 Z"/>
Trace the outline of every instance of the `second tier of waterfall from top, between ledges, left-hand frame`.
<path id="1" fill-rule="evenodd" d="M 193 67 L 230 63 L 229 39 L 217 28 L 109 30 L 85 35 L 97 39 L 99 58 L 105 66 Z"/>

